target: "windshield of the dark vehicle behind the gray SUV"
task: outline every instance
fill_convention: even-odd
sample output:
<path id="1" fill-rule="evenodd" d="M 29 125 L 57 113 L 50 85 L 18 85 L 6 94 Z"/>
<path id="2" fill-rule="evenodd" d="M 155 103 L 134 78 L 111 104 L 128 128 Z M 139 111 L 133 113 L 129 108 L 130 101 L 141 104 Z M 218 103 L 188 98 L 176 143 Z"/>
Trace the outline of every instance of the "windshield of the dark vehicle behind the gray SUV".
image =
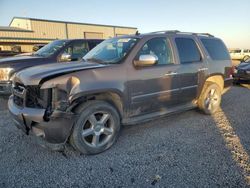
<path id="1" fill-rule="evenodd" d="M 58 49 L 63 47 L 67 40 L 56 40 L 53 41 L 44 47 L 42 47 L 40 50 L 34 53 L 34 55 L 42 56 L 42 57 L 49 57 L 53 55 Z"/>

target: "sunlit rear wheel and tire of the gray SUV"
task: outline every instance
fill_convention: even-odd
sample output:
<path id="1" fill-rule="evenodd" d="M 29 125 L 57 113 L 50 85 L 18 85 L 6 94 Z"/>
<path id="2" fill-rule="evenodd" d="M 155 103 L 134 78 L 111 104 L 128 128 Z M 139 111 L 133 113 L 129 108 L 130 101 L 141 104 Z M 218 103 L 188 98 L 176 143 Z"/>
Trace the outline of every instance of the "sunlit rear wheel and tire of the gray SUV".
<path id="1" fill-rule="evenodd" d="M 205 114 L 214 114 L 220 107 L 221 89 L 213 82 L 206 82 L 198 99 L 198 107 Z"/>

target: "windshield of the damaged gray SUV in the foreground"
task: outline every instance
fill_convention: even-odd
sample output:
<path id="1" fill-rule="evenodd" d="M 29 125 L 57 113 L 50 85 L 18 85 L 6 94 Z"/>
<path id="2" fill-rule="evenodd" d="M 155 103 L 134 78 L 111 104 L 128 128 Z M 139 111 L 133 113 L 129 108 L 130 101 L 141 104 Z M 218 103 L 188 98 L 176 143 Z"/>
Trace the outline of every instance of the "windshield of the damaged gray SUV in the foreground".
<path id="1" fill-rule="evenodd" d="M 99 63 L 120 62 L 136 44 L 136 38 L 112 38 L 103 41 L 87 53 L 83 59 Z"/>

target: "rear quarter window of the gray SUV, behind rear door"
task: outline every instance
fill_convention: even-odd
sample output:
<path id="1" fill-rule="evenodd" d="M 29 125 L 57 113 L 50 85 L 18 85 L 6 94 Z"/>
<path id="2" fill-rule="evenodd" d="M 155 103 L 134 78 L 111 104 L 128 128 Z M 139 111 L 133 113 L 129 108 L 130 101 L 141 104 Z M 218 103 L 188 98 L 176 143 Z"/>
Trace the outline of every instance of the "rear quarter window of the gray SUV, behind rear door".
<path id="1" fill-rule="evenodd" d="M 201 39 L 201 42 L 213 60 L 230 60 L 228 50 L 221 40 Z"/>

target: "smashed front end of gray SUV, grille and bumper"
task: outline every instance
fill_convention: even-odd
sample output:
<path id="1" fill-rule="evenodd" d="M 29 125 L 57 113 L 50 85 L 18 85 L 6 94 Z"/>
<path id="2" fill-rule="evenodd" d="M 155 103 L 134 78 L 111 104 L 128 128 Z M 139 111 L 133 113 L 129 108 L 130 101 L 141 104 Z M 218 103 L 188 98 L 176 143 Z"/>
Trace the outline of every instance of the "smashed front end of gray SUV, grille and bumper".
<path id="1" fill-rule="evenodd" d="M 17 127 L 47 143 L 65 144 L 76 115 L 70 110 L 67 83 L 61 86 L 24 86 L 14 82 L 8 107 Z"/>

